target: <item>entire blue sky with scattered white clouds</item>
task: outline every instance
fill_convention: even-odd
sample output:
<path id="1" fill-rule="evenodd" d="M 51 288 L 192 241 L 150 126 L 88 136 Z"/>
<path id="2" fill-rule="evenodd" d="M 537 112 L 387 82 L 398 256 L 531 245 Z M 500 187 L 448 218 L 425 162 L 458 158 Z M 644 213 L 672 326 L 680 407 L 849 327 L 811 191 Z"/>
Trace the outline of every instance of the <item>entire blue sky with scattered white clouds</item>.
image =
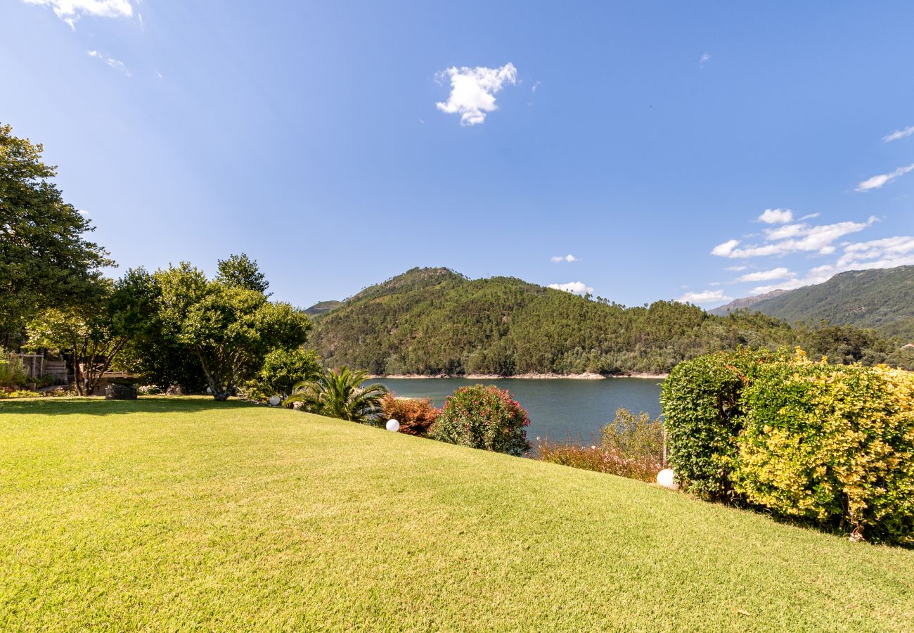
<path id="1" fill-rule="evenodd" d="M 914 263 L 909 3 L 8 0 L 0 21 L 0 121 L 121 269 L 247 252 L 301 306 L 443 265 L 710 307 Z"/>

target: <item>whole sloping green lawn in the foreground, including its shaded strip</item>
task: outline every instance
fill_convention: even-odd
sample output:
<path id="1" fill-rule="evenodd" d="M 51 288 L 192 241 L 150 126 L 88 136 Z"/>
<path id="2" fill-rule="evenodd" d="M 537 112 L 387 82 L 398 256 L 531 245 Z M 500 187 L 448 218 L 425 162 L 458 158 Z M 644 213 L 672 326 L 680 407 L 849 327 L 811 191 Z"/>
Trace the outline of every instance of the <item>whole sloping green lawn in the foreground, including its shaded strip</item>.
<path id="1" fill-rule="evenodd" d="M 914 552 L 240 402 L 0 402 L 0 630 L 911 630 Z"/>

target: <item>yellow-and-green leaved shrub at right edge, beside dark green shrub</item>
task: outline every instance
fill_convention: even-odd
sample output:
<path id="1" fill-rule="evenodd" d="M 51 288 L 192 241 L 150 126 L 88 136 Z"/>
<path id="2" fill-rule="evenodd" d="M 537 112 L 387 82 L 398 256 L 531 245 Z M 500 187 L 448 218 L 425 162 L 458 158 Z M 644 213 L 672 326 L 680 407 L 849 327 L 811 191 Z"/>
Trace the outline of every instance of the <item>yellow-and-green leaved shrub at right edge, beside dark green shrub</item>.
<path id="1" fill-rule="evenodd" d="M 734 488 L 778 514 L 914 544 L 914 376 L 801 358 L 743 392 Z"/>

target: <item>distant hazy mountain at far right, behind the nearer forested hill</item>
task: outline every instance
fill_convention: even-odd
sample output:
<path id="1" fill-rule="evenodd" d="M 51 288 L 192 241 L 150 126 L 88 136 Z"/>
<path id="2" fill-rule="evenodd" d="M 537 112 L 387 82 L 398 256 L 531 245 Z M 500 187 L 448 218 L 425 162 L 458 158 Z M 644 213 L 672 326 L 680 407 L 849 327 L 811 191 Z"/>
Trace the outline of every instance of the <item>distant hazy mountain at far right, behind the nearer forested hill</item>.
<path id="1" fill-rule="evenodd" d="M 788 323 L 824 320 L 914 340 L 914 266 L 836 274 L 823 284 L 760 296 L 750 306 Z"/>

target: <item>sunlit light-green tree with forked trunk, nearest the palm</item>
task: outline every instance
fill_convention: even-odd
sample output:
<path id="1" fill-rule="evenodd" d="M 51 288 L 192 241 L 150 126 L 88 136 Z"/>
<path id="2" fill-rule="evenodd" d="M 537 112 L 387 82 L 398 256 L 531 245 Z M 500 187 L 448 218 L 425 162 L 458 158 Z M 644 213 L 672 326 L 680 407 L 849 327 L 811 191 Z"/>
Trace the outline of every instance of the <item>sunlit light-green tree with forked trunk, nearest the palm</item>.
<path id="1" fill-rule="evenodd" d="M 154 278 L 165 328 L 197 356 L 217 400 L 253 378 L 271 350 L 297 348 L 307 340 L 311 322 L 303 311 L 272 303 L 262 292 L 208 281 L 188 263 Z"/>

